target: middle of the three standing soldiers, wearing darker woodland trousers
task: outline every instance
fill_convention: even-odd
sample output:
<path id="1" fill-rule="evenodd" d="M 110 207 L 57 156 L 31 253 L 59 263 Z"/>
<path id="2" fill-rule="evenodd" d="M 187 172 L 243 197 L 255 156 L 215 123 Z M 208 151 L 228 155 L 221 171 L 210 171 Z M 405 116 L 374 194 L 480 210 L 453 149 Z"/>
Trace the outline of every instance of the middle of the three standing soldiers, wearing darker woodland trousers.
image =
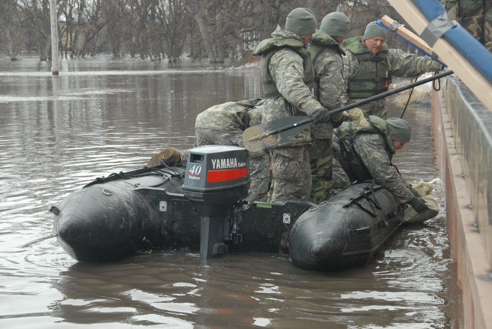
<path id="1" fill-rule="evenodd" d="M 310 42 L 309 54 L 315 72 L 315 98 L 328 111 L 342 105 L 343 60 L 345 52 L 340 44 L 347 37 L 350 27 L 349 18 L 341 12 L 326 15 L 321 21 L 320 30 L 316 30 Z M 330 115 L 327 123 L 311 125 L 312 145 L 309 147 L 312 188 L 309 201 L 324 201 L 331 190 L 333 182 L 333 165 L 331 158 L 331 135 L 333 126 L 337 127 L 343 120 L 343 113 Z"/>

